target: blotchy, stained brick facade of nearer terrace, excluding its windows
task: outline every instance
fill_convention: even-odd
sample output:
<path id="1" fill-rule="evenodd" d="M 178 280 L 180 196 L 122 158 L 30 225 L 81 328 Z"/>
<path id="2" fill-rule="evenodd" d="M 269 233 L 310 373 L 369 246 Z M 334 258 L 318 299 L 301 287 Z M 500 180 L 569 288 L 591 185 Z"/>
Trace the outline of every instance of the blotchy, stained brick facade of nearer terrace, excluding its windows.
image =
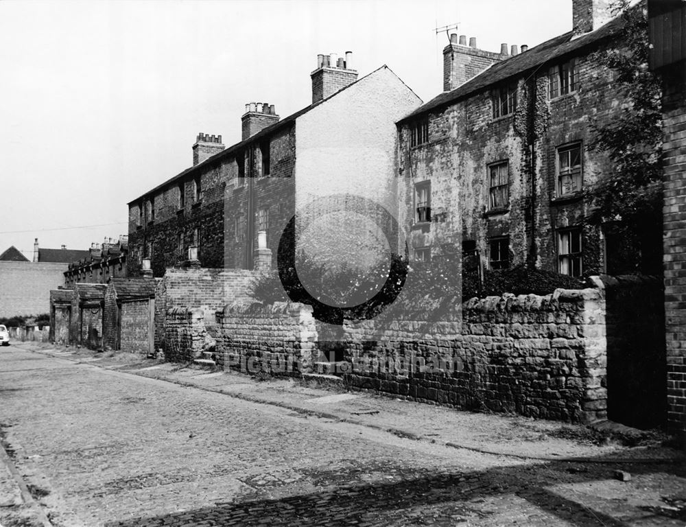
<path id="1" fill-rule="evenodd" d="M 589 207 L 580 193 L 556 194 L 558 148 L 579 143 L 582 180 L 588 186 L 611 168 L 606 154 L 592 152 L 593 126 L 613 122 L 622 111 L 624 97 L 615 77 L 586 49 L 576 60 L 577 89 L 549 97 L 543 65 L 508 82 L 516 86 L 517 106 L 504 117 L 494 117 L 492 95 L 501 86 L 475 91 L 458 102 L 430 110 L 427 143 L 412 146 L 413 122 L 400 127 L 399 170 L 401 224 L 410 237 L 410 250 L 455 239 L 475 242 L 486 258 L 489 241 L 509 237 L 510 266 L 532 263 L 558 270 L 558 229 L 582 229 L 582 271 L 602 272 L 606 262 L 600 228 L 587 222 Z M 517 60 L 509 58 L 508 60 Z M 565 60 L 568 60 L 566 58 Z M 508 198 L 505 207 L 492 207 L 489 167 L 508 163 Z M 415 185 L 431 185 L 431 222 L 414 221 Z M 639 255 L 632 253 L 635 262 Z"/>

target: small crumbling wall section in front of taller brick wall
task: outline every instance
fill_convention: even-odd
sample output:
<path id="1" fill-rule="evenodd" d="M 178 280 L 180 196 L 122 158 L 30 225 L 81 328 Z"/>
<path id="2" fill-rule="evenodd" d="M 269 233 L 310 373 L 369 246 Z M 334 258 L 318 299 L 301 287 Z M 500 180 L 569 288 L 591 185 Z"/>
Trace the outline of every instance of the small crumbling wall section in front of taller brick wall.
<path id="1" fill-rule="evenodd" d="M 188 362 L 211 347 L 204 324 L 202 309 L 174 307 L 167 309 L 165 318 L 165 359 Z"/>

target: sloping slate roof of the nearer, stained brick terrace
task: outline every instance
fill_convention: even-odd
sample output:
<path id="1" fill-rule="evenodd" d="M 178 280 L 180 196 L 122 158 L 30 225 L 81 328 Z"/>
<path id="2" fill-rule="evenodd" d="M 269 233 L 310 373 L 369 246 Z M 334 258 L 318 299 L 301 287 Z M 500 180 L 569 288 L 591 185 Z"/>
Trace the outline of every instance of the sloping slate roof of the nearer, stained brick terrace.
<path id="1" fill-rule="evenodd" d="M 536 70 L 541 69 L 541 67 L 552 65 L 554 62 L 559 62 L 568 57 L 571 58 L 571 56 L 578 54 L 578 51 L 584 47 L 597 45 L 602 40 L 616 36 L 623 26 L 624 19 L 622 16 L 617 16 L 615 19 L 599 27 L 598 30 L 583 34 L 577 38 L 572 38 L 573 34 L 571 31 L 551 38 L 543 44 L 523 51 L 519 55 L 496 62 L 493 66 L 456 89 L 445 91 L 426 104 L 416 108 L 412 113 L 400 119 L 397 124 L 401 124 L 407 121 L 407 119 L 412 119 L 412 117 L 426 113 L 429 110 L 454 104 L 460 101 L 460 99 L 466 99 L 479 91 L 489 88 L 493 84 L 519 77 L 525 73 L 534 73 Z"/>

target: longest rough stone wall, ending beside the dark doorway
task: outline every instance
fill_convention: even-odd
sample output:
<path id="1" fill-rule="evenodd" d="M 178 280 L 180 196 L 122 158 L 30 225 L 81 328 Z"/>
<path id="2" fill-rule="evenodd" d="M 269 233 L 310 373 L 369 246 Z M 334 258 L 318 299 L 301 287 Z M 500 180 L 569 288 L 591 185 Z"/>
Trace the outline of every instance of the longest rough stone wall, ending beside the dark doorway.
<path id="1" fill-rule="evenodd" d="M 346 326 L 343 377 L 416 401 L 590 423 L 606 419 L 604 323 L 595 289 L 472 298 L 460 330 L 433 324 L 431 338 L 407 339 L 421 320 L 381 338 L 373 320 Z"/>

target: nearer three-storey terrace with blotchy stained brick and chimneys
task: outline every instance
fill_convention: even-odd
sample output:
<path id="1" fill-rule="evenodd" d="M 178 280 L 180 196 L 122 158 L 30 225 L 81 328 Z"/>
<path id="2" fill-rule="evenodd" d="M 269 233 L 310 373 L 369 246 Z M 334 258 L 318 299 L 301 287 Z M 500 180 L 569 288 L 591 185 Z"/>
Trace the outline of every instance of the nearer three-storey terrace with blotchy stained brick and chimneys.
<path id="1" fill-rule="evenodd" d="M 573 0 L 573 30 L 531 49 L 504 44 L 492 53 L 451 35 L 443 93 L 398 125 L 401 222 L 414 258 L 462 242 L 490 269 L 528 262 L 578 276 L 640 268 L 610 224 L 586 221 L 581 192 L 610 166 L 589 150 L 591 127 L 619 115 L 622 95 L 593 54 L 622 47 L 622 23 L 605 0 Z M 641 270 L 659 272 L 660 253 Z"/>

